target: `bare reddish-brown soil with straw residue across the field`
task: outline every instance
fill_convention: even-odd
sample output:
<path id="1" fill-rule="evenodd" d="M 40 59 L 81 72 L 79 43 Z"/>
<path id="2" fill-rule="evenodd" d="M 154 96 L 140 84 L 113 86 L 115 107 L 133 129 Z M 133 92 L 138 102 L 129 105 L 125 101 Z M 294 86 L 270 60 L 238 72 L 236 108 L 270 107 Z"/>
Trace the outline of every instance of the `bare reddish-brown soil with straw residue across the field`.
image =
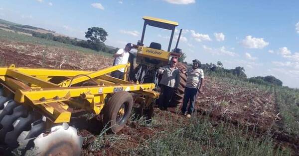
<path id="1" fill-rule="evenodd" d="M 0 65 L 15 64 L 17 67 L 42 67 L 76 70 L 98 70 L 112 65 L 113 58 L 95 53 L 81 53 L 67 49 L 45 47 L 0 40 Z M 270 92 L 258 89 L 241 88 L 233 83 L 218 81 L 212 77 L 205 77 L 204 94 L 198 94 L 196 112 L 198 117 L 208 115 L 215 121 L 228 121 L 233 125 L 246 125 L 257 128 L 260 134 L 267 130 L 273 131 L 276 141 L 299 151 L 298 138 L 289 136 L 281 131 L 279 121 L 281 117 L 277 111 L 275 97 Z M 165 118 L 166 117 L 166 118 Z M 169 108 L 160 111 L 155 108 L 154 119 L 159 122 L 174 122 L 177 127 L 188 123 L 188 119 L 179 114 L 178 108 Z M 170 121 L 167 121 L 170 119 Z M 85 120 L 84 118 L 78 121 Z M 138 147 L 141 143 L 154 136 L 157 132 L 166 130 L 166 127 L 148 127 L 140 122 L 129 121 L 126 127 L 118 134 L 106 135 L 99 150 L 90 149 L 90 145 L 101 133 L 101 126 L 95 118 L 88 120 L 87 125 L 79 127 L 80 134 L 85 137 L 83 155 L 93 154 L 100 156 L 105 149 L 105 155 L 113 156 L 125 154 L 124 151 Z M 117 140 L 111 142 L 111 140 Z"/>

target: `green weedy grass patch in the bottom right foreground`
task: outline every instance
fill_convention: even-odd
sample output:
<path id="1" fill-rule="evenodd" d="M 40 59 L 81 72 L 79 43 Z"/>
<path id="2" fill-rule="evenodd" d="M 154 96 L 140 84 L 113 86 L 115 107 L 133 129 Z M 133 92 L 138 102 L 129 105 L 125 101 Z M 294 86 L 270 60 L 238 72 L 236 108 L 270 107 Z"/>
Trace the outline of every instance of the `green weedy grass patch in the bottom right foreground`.
<path id="1" fill-rule="evenodd" d="M 252 131 L 224 122 L 214 127 L 208 118 L 192 118 L 186 127 L 160 132 L 129 150 L 142 156 L 290 156 L 290 149 L 276 146 L 271 135 L 255 137 Z"/>

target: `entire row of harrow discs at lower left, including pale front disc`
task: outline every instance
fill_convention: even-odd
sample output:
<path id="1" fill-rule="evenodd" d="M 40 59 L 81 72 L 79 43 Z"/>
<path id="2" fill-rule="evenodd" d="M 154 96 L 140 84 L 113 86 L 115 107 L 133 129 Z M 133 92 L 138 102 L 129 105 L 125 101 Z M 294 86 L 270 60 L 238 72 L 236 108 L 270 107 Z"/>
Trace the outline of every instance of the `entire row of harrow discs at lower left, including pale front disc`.
<path id="1" fill-rule="evenodd" d="M 18 148 L 22 156 L 80 156 L 81 146 L 82 138 L 67 123 L 46 130 L 45 117 L 0 96 L 0 153 Z"/>

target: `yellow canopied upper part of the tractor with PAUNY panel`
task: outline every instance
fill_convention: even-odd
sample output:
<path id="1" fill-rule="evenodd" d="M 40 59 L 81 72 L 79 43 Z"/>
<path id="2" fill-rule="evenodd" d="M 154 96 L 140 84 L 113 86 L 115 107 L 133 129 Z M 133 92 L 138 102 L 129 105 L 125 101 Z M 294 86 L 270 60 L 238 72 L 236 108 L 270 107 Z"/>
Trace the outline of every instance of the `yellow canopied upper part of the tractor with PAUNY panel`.
<path id="1" fill-rule="evenodd" d="M 175 47 L 175 52 L 170 52 L 171 43 L 174 36 L 175 27 L 178 26 L 177 22 L 159 19 L 149 16 L 144 16 L 143 19 L 145 20 L 141 40 L 138 42 L 138 51 L 137 51 L 137 64 L 147 65 L 149 67 L 158 68 L 168 64 L 169 58 L 180 57 L 180 53 L 177 52 L 177 44 Z M 166 29 L 171 31 L 170 40 L 168 44 L 167 51 L 161 50 L 161 44 L 156 42 L 151 42 L 150 45 L 144 45 L 144 39 L 146 34 L 147 26 L 157 27 L 161 29 Z M 181 32 L 180 32 L 181 33 Z M 180 35 L 179 35 L 180 37 Z M 179 41 L 178 37 L 178 41 Z"/>

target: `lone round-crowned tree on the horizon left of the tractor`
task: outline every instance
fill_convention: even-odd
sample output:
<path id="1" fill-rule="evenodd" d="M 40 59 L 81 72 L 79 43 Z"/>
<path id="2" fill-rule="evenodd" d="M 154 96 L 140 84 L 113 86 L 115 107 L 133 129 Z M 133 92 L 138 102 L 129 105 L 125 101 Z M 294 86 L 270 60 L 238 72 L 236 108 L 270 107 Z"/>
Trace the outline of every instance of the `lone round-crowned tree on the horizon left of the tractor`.
<path id="1" fill-rule="evenodd" d="M 85 38 L 91 43 L 104 43 L 107 36 L 108 33 L 103 28 L 99 27 L 88 28 L 88 31 L 85 33 Z"/>

